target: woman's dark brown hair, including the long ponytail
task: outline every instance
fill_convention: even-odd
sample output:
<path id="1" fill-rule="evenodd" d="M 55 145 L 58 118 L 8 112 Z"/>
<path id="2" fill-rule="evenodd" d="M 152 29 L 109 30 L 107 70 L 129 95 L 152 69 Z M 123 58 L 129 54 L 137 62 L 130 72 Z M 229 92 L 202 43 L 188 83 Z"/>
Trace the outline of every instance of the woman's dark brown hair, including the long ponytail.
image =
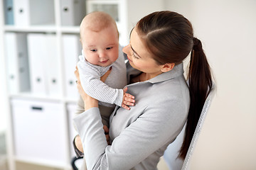
<path id="1" fill-rule="evenodd" d="M 203 104 L 213 84 L 201 41 L 193 37 L 191 22 L 172 11 L 159 11 L 145 16 L 137 23 L 136 29 L 158 64 L 179 64 L 191 52 L 188 70 L 191 104 L 179 154 L 179 157 L 185 159 Z"/>

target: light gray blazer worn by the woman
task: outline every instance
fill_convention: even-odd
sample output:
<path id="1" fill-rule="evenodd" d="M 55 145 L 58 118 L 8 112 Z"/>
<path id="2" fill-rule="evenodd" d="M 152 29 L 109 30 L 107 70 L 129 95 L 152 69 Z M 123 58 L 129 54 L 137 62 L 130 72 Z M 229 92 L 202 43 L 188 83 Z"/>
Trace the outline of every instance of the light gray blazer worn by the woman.
<path id="1" fill-rule="evenodd" d="M 128 67 L 128 80 L 137 70 Z M 82 139 L 87 169 L 155 170 L 166 147 L 186 122 L 190 97 L 183 64 L 148 81 L 127 85 L 135 96 L 130 111 L 117 106 L 110 117 L 107 145 L 99 108 L 74 119 Z"/>

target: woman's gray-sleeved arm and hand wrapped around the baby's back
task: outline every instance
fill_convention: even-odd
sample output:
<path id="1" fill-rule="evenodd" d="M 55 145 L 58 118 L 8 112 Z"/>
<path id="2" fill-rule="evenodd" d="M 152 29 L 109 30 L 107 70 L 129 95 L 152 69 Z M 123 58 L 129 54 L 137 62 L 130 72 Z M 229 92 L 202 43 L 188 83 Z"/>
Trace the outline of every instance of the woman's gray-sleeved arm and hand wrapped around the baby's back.
<path id="1" fill-rule="evenodd" d="M 79 87 L 78 82 L 78 88 Z M 152 153 L 172 142 L 186 121 L 183 102 L 177 98 L 155 102 L 144 114 L 124 129 L 107 145 L 102 129 L 100 111 L 95 99 L 79 90 L 85 100 L 86 111 L 74 119 L 85 151 L 87 169 L 132 169 Z M 178 115 L 183 115 L 178 116 Z M 154 128 L 152 128 L 154 127 Z M 158 160 L 154 159 L 154 164 Z"/>

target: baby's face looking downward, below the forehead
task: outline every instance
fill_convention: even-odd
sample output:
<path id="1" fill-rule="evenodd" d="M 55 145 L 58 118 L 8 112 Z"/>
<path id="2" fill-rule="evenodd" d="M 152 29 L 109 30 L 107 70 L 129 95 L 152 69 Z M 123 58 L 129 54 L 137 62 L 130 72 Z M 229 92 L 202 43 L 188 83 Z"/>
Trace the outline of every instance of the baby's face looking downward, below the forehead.
<path id="1" fill-rule="evenodd" d="M 118 33 L 114 26 L 100 32 L 85 30 L 82 35 L 82 50 L 87 62 L 106 67 L 118 58 Z"/>

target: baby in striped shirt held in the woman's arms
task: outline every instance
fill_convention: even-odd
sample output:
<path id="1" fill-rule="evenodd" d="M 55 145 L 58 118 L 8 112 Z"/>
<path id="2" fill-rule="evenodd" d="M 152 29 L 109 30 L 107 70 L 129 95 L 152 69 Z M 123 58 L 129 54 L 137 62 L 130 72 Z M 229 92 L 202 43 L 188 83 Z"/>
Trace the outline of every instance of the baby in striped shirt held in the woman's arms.
<path id="1" fill-rule="evenodd" d="M 134 96 L 126 93 L 127 88 L 123 89 L 127 85 L 127 74 L 118 38 L 117 25 L 107 13 L 89 13 L 80 24 L 80 82 L 85 93 L 99 101 L 102 123 L 107 127 L 116 105 L 129 110 L 135 102 Z M 100 77 L 109 69 L 109 76 L 102 82 Z"/>

